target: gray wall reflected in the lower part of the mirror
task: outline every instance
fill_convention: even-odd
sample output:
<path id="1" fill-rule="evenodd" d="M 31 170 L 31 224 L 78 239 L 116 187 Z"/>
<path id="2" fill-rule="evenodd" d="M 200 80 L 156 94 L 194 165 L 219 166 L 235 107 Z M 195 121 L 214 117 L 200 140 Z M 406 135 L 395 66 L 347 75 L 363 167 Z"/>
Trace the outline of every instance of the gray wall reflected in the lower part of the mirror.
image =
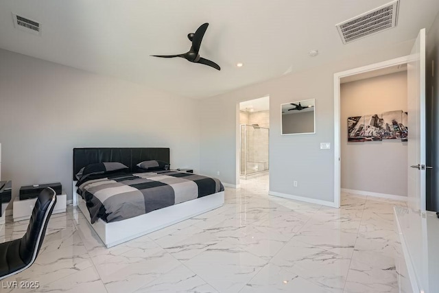
<path id="1" fill-rule="evenodd" d="M 314 132 L 314 112 L 282 115 L 282 132 L 284 134 Z"/>

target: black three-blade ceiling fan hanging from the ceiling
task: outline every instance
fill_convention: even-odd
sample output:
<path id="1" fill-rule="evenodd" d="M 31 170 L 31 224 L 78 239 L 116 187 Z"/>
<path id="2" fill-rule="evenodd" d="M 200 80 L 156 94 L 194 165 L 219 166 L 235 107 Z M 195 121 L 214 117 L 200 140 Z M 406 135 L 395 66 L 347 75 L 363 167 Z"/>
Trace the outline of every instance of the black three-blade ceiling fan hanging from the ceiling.
<path id="1" fill-rule="evenodd" d="M 191 49 L 189 49 L 189 51 L 187 51 L 185 54 L 151 55 L 151 56 L 161 57 L 161 58 L 180 57 L 180 58 L 185 58 L 189 62 L 200 63 L 200 64 L 204 64 L 204 65 L 213 67 L 217 70 L 221 70 L 221 67 L 219 67 L 219 65 L 217 65 L 215 62 L 213 62 L 211 60 L 204 59 L 204 58 L 200 57 L 200 54 L 198 54 L 198 51 L 200 51 L 201 41 L 203 39 L 204 33 L 206 32 L 208 26 L 209 26 L 209 23 L 203 23 L 202 25 L 200 25 L 200 27 L 198 27 L 195 34 L 191 33 L 191 34 L 187 35 L 187 38 L 189 38 L 189 40 L 191 40 L 192 45 L 191 45 Z"/>

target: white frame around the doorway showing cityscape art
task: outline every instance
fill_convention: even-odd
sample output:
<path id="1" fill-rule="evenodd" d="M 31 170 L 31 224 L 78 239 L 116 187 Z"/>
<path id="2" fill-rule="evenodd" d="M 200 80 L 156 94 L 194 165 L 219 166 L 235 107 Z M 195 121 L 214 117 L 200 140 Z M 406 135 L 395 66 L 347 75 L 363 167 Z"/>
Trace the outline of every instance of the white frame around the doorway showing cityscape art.
<path id="1" fill-rule="evenodd" d="M 334 73 L 334 205 L 340 208 L 341 166 L 340 166 L 340 80 L 346 76 L 383 69 L 409 62 L 410 56 L 403 56 L 346 71 Z"/>

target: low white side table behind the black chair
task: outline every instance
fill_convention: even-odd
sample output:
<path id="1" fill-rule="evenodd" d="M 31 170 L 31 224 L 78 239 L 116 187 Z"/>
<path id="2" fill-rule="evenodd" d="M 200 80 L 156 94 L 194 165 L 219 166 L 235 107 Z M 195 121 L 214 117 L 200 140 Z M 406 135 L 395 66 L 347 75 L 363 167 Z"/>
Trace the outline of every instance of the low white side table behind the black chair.
<path id="1" fill-rule="evenodd" d="M 20 200 L 19 196 L 16 196 L 13 203 L 14 210 L 12 212 L 12 218 L 14 218 L 14 222 L 30 219 L 35 202 L 36 198 Z M 65 213 L 66 208 L 67 194 L 58 194 L 56 196 L 56 204 L 52 213 Z"/>

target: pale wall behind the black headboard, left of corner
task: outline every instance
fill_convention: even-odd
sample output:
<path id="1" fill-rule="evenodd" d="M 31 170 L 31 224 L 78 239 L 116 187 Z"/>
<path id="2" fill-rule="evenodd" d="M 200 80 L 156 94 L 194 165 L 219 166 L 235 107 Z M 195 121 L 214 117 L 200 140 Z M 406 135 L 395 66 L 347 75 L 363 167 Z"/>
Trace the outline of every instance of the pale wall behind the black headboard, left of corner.
<path id="1" fill-rule="evenodd" d="M 61 182 L 74 147 L 169 147 L 171 167 L 200 169 L 198 101 L 0 49 L 1 178 Z"/>

